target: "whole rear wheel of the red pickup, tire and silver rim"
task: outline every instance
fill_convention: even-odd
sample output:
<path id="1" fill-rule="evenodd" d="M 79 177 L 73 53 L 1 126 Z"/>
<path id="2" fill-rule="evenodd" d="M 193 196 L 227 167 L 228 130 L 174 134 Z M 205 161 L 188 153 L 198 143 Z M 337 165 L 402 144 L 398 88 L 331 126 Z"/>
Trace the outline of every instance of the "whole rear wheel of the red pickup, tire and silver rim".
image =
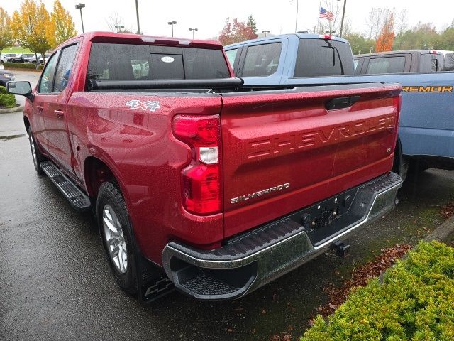
<path id="1" fill-rule="evenodd" d="M 96 212 L 104 249 L 118 285 L 135 294 L 135 245 L 128 210 L 118 185 L 109 182 L 101 185 Z"/>

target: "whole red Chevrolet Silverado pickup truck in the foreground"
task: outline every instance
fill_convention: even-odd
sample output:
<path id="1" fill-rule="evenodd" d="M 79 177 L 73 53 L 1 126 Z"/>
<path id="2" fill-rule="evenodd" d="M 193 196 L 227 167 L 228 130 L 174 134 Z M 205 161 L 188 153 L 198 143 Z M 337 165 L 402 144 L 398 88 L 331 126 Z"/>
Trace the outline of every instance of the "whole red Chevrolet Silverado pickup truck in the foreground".
<path id="1" fill-rule="evenodd" d="M 33 162 L 119 285 L 238 298 L 392 210 L 399 85 L 245 89 L 216 42 L 85 33 L 27 97 Z"/>

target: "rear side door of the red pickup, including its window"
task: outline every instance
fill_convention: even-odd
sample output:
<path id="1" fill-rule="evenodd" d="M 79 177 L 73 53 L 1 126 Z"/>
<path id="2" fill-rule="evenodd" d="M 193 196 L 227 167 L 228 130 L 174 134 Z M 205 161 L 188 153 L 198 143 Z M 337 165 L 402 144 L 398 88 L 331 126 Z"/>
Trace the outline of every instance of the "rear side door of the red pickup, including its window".
<path id="1" fill-rule="evenodd" d="M 44 134 L 47 139 L 45 148 L 60 166 L 70 172 L 72 152 L 67 134 L 65 109 L 70 94 L 70 87 L 67 85 L 76 52 L 77 43 L 57 51 L 49 61 L 49 63 L 52 61 L 52 70 L 48 73 L 43 72 L 38 85 L 38 101 L 43 107 Z"/>

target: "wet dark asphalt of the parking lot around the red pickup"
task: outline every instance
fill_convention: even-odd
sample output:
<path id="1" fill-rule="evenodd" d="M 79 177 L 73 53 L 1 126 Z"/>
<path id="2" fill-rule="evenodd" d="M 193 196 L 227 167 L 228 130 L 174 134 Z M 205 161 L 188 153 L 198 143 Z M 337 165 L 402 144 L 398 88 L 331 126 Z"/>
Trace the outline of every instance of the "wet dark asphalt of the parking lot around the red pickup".
<path id="1" fill-rule="evenodd" d="M 18 79 L 18 78 L 16 78 Z M 0 115 L 20 131 L 21 113 Z M 0 139 L 0 340 L 298 340 L 323 288 L 396 243 L 416 244 L 443 222 L 454 171 L 411 176 L 396 210 L 348 240 L 348 259 L 324 254 L 238 301 L 172 293 L 140 305 L 114 283 L 92 217 L 35 173 L 25 136 Z"/>

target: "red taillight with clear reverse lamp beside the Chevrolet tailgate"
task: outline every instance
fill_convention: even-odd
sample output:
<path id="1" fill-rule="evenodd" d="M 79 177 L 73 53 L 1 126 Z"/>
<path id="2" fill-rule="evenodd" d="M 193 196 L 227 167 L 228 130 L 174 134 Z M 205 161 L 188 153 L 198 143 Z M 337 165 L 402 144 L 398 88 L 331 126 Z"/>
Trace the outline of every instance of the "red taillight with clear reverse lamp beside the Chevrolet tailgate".
<path id="1" fill-rule="evenodd" d="M 193 151 L 190 165 L 182 170 L 184 207 L 198 215 L 221 212 L 219 117 L 177 115 L 172 131 Z"/>

